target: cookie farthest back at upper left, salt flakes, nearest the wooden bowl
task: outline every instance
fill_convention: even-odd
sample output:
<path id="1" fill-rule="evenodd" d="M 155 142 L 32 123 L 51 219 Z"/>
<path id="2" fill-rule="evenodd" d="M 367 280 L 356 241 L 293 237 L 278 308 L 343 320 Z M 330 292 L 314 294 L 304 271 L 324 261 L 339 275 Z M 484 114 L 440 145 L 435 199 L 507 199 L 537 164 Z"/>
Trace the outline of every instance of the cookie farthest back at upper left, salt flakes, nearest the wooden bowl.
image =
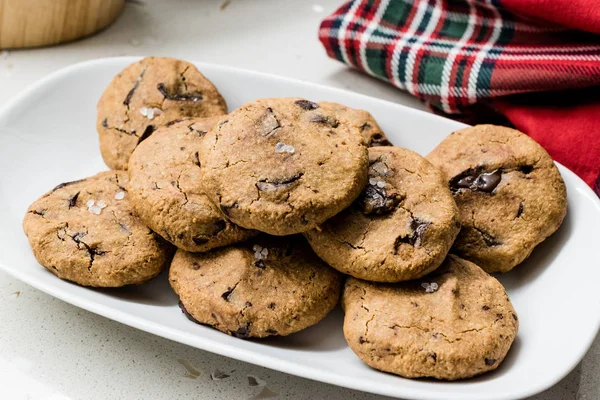
<path id="1" fill-rule="evenodd" d="M 194 65 L 144 58 L 115 76 L 100 98 L 96 127 L 102 158 L 112 169 L 127 169 L 135 147 L 159 126 L 226 112 L 221 94 Z"/>

